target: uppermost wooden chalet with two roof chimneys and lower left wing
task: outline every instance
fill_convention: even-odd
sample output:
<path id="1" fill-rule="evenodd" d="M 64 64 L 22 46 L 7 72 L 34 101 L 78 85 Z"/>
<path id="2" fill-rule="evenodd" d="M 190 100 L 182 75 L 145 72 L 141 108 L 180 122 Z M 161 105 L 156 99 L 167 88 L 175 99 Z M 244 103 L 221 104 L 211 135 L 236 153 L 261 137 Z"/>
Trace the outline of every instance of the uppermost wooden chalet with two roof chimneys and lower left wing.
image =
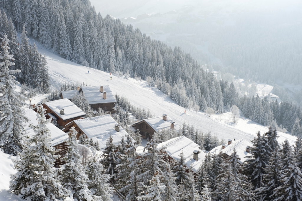
<path id="1" fill-rule="evenodd" d="M 60 97 L 62 99 L 71 100 L 76 94 L 83 93 L 89 105 L 95 111 L 98 108 L 103 109 L 111 114 L 115 113 L 116 100 L 109 86 L 78 86 L 77 90 L 62 91 Z"/>

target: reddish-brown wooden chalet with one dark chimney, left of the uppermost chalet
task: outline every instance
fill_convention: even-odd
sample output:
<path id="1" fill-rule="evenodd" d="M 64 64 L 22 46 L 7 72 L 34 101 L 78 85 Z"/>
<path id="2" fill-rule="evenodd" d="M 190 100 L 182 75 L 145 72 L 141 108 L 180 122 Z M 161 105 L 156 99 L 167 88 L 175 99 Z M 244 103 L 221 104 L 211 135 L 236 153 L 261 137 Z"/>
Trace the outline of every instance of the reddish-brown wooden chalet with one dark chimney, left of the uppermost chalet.
<path id="1" fill-rule="evenodd" d="M 42 104 L 43 108 L 46 109 L 46 118 L 53 118 L 56 120 L 58 128 L 63 129 L 66 124 L 73 120 L 85 117 L 86 114 L 79 109 L 69 99 L 59 99 Z M 37 112 L 37 108 L 34 108 Z"/>

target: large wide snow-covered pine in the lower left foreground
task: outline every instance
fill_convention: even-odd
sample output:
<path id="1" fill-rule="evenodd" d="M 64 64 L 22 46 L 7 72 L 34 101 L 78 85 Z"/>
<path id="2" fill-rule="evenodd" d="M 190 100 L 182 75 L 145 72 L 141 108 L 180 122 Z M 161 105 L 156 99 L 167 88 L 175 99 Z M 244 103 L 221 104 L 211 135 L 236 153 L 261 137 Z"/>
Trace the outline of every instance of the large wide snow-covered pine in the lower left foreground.
<path id="1" fill-rule="evenodd" d="M 55 148 L 51 145 L 50 130 L 47 128 L 51 119 L 47 120 L 45 113 L 46 109 L 38 105 L 38 125 L 31 125 L 35 135 L 28 139 L 23 151 L 18 154 L 15 160 L 17 173 L 11 175 L 9 191 L 26 200 L 65 199 L 70 193 L 57 180 L 54 167 L 57 156 L 54 155 Z"/>

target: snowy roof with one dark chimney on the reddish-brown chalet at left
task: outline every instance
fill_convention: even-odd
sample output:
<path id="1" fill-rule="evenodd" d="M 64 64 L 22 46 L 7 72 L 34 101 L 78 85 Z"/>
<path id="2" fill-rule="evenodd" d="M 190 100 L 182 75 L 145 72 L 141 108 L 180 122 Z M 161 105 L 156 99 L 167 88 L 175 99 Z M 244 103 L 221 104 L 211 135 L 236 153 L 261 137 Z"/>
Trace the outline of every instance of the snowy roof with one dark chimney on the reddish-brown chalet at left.
<path id="1" fill-rule="evenodd" d="M 59 99 L 44 103 L 49 107 L 57 116 L 64 121 L 76 117 L 83 117 L 86 115 L 81 109 L 78 108 L 73 102 L 68 99 Z M 60 109 L 64 109 L 64 115 L 60 114 Z"/>

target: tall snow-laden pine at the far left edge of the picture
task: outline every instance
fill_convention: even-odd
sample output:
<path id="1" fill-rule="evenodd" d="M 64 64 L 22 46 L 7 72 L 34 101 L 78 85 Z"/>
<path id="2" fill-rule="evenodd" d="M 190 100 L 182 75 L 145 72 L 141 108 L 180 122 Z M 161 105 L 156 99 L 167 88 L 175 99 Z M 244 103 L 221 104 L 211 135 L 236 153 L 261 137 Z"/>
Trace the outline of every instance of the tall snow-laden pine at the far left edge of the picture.
<path id="1" fill-rule="evenodd" d="M 14 66 L 13 55 L 9 54 L 7 35 L 0 38 L 0 148 L 8 154 L 17 155 L 22 151 L 23 135 L 26 131 L 23 127 L 27 118 L 24 116 L 24 97 L 15 91 L 16 85 L 13 74 L 20 70 L 9 70 L 10 66 Z"/>

